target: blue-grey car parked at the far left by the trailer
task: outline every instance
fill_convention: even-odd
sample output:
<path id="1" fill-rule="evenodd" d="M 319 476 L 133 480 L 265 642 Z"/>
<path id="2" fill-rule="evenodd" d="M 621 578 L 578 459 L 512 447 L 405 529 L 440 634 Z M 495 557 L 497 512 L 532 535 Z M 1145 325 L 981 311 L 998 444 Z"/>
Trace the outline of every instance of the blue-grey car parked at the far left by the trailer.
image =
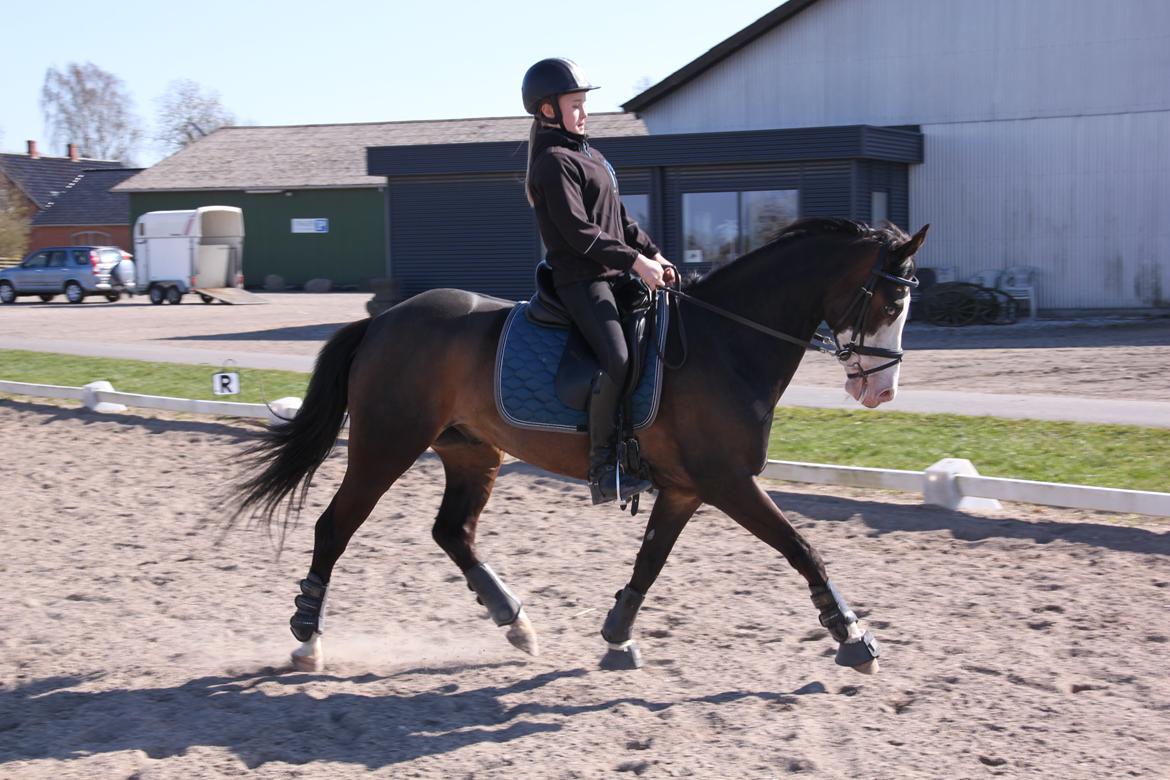
<path id="1" fill-rule="evenodd" d="M 0 269 L 0 303 L 35 295 L 51 301 L 64 294 L 69 303 L 90 295 L 117 301 L 133 295 L 135 261 L 118 247 L 46 247 L 32 253 L 20 265 Z"/>

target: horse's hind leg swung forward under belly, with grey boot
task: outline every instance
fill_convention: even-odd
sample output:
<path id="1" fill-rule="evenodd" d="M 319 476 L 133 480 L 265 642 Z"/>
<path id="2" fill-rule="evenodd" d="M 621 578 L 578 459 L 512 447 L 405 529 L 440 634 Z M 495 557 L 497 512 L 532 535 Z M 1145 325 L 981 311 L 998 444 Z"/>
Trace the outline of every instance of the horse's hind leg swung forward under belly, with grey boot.
<path id="1" fill-rule="evenodd" d="M 434 449 L 447 474 L 447 489 L 431 532 L 435 543 L 459 566 L 496 626 L 508 627 L 508 641 L 538 655 L 536 630 L 519 599 L 475 551 L 475 529 L 491 496 L 503 453 L 455 429 L 443 432 Z"/>

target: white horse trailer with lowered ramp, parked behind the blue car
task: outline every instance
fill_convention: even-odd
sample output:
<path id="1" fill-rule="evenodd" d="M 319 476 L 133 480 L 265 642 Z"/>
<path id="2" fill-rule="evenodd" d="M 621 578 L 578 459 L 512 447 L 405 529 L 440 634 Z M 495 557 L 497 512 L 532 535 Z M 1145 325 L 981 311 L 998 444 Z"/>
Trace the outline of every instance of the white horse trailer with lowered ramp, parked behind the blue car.
<path id="1" fill-rule="evenodd" d="M 181 303 L 187 292 L 204 303 L 264 303 L 243 291 L 243 212 L 233 206 L 143 214 L 135 263 L 138 290 L 153 304 Z"/>

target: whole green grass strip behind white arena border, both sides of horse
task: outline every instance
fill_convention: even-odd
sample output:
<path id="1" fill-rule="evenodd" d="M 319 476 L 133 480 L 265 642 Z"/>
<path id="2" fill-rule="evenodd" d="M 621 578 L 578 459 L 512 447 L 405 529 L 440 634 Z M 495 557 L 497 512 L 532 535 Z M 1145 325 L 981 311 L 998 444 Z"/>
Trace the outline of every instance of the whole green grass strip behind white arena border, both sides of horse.
<path id="1" fill-rule="evenodd" d="M 115 389 L 214 399 L 212 366 L 76 358 L 0 350 L 0 379 L 82 385 L 104 379 Z M 303 398 L 308 374 L 233 368 L 250 403 Z M 921 471 L 944 457 L 965 457 L 986 476 L 1131 490 L 1170 490 L 1170 429 L 1075 422 L 968 417 L 954 414 L 777 409 L 769 456 L 783 461 Z"/>

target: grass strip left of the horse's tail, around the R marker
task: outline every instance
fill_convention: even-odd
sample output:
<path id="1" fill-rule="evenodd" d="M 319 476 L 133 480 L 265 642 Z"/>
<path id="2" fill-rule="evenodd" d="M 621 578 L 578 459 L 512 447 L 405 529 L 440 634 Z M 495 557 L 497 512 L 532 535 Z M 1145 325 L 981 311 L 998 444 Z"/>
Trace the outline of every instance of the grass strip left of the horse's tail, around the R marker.
<path id="1" fill-rule="evenodd" d="M 239 395 L 212 393 L 212 374 L 225 371 L 213 366 L 186 366 L 144 360 L 78 358 L 71 354 L 0 350 L 0 379 L 40 385 L 81 387 L 104 379 L 121 393 L 171 395 L 261 403 L 287 395 L 304 396 L 309 375 L 295 371 L 261 371 L 229 366 L 240 374 Z"/>

